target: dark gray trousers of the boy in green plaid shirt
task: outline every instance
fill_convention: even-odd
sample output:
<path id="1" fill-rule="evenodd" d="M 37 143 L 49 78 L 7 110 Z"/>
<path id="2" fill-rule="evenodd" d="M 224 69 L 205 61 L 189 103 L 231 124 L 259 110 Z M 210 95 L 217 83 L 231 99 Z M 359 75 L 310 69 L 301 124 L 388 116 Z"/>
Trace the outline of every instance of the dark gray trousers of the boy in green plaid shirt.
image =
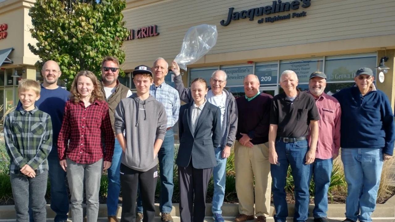
<path id="1" fill-rule="evenodd" d="M 12 195 L 15 200 L 17 222 L 29 221 L 29 203 L 33 211 L 34 221 L 46 221 L 45 193 L 47 192 L 48 171 L 34 178 L 10 173 Z"/>

